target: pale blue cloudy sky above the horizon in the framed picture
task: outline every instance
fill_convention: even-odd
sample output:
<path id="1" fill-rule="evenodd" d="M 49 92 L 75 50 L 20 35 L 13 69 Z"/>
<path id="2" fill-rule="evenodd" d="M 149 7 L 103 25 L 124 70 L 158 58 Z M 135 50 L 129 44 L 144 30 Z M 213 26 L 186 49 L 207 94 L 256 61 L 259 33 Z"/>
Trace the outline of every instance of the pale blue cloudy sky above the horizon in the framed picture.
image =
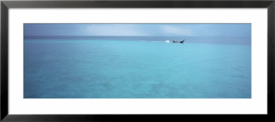
<path id="1" fill-rule="evenodd" d="M 24 35 L 250 37 L 251 24 L 24 24 Z"/>

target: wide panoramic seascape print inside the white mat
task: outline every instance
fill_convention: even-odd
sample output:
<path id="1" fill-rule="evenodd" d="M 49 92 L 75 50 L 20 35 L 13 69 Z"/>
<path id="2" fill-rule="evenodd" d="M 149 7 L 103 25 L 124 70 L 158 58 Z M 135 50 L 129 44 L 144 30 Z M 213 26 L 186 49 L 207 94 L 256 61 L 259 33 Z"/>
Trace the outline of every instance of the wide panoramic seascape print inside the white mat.
<path id="1" fill-rule="evenodd" d="M 24 99 L 251 99 L 250 23 L 24 23 Z"/>

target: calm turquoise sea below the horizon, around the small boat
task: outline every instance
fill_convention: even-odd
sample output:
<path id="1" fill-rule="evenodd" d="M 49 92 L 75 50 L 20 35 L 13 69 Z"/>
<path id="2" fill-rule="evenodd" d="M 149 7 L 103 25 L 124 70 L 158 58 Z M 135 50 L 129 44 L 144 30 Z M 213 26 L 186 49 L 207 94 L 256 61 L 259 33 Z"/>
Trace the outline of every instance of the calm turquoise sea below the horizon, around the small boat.
<path id="1" fill-rule="evenodd" d="M 251 38 L 181 38 L 25 38 L 23 96 L 251 98 Z"/>

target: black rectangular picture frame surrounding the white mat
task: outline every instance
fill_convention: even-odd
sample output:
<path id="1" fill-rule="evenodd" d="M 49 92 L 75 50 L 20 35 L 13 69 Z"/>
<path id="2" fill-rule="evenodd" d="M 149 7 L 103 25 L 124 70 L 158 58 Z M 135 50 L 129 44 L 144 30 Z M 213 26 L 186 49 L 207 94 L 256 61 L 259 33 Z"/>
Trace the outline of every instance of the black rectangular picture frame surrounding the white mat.
<path id="1" fill-rule="evenodd" d="M 43 114 L 14 115 L 8 113 L 8 13 L 9 8 L 267 8 L 267 114 Z M 275 1 L 1 1 L 1 121 L 122 121 L 147 119 L 274 119 L 275 69 Z M 146 118 L 146 119 L 145 119 Z"/>

